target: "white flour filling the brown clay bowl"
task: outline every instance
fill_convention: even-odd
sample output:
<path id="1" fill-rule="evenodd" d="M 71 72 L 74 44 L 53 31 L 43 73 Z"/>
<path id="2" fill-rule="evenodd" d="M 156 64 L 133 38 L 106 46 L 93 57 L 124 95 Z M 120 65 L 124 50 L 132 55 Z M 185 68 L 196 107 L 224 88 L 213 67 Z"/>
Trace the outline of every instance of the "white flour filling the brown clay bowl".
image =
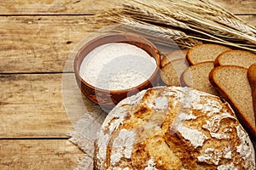
<path id="1" fill-rule="evenodd" d="M 156 61 L 142 48 L 123 43 L 107 43 L 84 58 L 79 74 L 90 85 L 106 90 L 133 88 L 152 76 Z"/>

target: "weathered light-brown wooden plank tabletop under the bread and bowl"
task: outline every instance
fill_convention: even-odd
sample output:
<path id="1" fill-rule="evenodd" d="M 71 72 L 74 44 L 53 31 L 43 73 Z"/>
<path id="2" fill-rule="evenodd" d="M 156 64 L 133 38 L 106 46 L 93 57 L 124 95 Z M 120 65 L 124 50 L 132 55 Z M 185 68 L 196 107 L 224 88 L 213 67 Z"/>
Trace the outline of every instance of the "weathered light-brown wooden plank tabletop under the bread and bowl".
<path id="1" fill-rule="evenodd" d="M 256 26 L 255 0 L 216 1 Z M 81 38 L 109 25 L 96 12 L 114 3 L 0 4 L 0 169 L 74 169 L 84 153 L 68 140 L 72 123 L 61 96 L 62 76 L 73 76 L 68 56 Z"/>

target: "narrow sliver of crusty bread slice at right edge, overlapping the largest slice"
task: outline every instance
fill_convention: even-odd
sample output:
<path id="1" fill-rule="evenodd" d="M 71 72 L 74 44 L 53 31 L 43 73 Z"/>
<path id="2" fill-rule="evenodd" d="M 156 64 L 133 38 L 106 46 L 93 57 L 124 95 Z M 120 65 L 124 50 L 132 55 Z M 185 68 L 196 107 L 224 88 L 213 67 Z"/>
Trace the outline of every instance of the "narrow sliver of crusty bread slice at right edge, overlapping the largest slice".
<path id="1" fill-rule="evenodd" d="M 255 116 L 255 121 L 256 121 L 256 63 L 251 65 L 248 68 L 247 78 L 249 80 L 249 83 L 250 83 L 250 86 L 251 86 L 251 89 L 252 89 L 253 110 L 254 110 L 254 116 Z"/>

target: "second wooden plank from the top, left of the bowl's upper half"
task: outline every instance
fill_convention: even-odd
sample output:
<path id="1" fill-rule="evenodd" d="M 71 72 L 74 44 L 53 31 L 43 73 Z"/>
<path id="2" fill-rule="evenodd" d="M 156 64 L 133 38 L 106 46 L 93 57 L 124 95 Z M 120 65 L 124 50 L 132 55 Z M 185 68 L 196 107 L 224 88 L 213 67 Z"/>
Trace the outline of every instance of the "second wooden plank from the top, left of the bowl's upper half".
<path id="1" fill-rule="evenodd" d="M 0 72 L 59 72 L 66 62 L 73 71 L 68 56 L 106 22 L 95 16 L 0 17 Z"/>

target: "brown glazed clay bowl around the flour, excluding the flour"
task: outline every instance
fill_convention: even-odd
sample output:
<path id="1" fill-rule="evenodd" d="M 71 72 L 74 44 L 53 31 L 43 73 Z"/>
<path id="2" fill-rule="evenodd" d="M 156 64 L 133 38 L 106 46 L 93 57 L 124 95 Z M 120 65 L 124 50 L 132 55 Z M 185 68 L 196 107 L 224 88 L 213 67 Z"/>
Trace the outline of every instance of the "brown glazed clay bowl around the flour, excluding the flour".
<path id="1" fill-rule="evenodd" d="M 121 90 L 106 90 L 96 88 L 86 82 L 86 80 L 84 80 L 79 74 L 80 66 L 84 58 L 94 48 L 110 42 L 125 42 L 131 45 L 135 45 L 138 48 L 142 48 L 144 51 L 146 51 L 151 57 L 155 59 L 157 65 L 152 76 L 136 87 Z M 85 97 L 90 99 L 95 104 L 102 106 L 102 108 L 111 110 L 115 105 L 119 103 L 120 100 L 125 99 L 126 97 L 133 94 L 137 94 L 138 91 L 143 89 L 158 85 L 160 80 L 160 53 L 152 42 L 149 42 L 143 37 L 131 33 L 114 33 L 96 37 L 90 42 L 85 43 L 84 46 L 79 49 L 78 54 L 76 54 L 73 67 L 76 81 L 79 85 L 79 88 L 81 89 L 82 94 L 84 94 Z"/>

